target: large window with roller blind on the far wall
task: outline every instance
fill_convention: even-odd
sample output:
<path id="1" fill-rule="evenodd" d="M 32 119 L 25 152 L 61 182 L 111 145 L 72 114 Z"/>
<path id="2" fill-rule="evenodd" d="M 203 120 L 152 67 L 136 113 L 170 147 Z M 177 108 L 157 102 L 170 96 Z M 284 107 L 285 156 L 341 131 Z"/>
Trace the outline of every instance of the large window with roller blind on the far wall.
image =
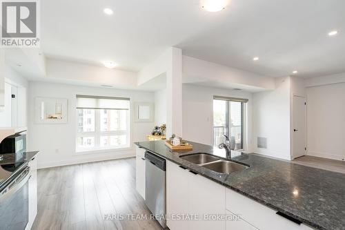
<path id="1" fill-rule="evenodd" d="M 77 151 L 130 146 L 128 98 L 77 95 Z"/>

